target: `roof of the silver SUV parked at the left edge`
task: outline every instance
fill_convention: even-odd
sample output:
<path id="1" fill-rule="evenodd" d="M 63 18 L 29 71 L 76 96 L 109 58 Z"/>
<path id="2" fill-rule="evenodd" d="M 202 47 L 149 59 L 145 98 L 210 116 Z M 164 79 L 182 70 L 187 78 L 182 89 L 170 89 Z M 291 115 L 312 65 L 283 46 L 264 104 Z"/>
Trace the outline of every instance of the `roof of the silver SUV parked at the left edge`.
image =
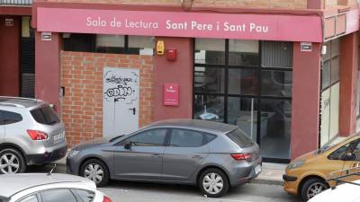
<path id="1" fill-rule="evenodd" d="M 44 103 L 46 102 L 31 98 L 0 96 L 0 106 L 5 106 L 5 107 L 30 108 L 30 107 L 42 105 Z"/>

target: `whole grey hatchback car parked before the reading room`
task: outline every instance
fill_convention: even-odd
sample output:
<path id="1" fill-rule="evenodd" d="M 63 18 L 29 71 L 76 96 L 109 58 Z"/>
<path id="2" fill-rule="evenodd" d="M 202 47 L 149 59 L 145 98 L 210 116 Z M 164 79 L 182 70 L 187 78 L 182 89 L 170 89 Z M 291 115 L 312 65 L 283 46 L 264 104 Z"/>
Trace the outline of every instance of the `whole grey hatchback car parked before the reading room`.
<path id="1" fill-rule="evenodd" d="M 198 185 L 208 197 L 246 183 L 261 171 L 259 146 L 237 126 L 167 119 L 127 136 L 78 145 L 67 172 L 94 180 L 139 180 Z"/>

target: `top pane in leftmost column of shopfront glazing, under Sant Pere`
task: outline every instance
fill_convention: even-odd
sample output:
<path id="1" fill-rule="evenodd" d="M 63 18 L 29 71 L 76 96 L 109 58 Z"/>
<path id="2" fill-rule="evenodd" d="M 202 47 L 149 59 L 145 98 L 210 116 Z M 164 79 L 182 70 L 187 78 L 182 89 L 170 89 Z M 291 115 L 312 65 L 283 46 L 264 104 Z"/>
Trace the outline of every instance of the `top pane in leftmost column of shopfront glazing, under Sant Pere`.
<path id="1" fill-rule="evenodd" d="M 196 39 L 195 64 L 225 64 L 225 40 Z"/>

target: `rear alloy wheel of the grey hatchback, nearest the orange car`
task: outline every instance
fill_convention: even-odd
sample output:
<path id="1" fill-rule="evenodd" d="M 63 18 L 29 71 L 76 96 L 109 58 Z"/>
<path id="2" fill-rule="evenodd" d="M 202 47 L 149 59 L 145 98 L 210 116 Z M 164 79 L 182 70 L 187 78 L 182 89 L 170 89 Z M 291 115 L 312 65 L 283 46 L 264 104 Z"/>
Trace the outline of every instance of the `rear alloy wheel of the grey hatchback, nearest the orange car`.
<path id="1" fill-rule="evenodd" d="M 219 194 L 224 187 L 224 180 L 218 173 L 210 172 L 204 176 L 202 187 L 210 194 Z"/>

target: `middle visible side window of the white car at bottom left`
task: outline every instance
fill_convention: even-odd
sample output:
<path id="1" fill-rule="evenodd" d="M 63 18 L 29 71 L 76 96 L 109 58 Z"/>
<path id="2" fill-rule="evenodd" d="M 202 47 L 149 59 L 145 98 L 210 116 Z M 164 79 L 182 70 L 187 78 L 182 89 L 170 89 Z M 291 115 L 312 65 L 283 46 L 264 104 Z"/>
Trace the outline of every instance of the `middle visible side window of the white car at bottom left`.
<path id="1" fill-rule="evenodd" d="M 42 202 L 77 202 L 69 189 L 51 189 L 42 191 L 40 194 Z"/>

